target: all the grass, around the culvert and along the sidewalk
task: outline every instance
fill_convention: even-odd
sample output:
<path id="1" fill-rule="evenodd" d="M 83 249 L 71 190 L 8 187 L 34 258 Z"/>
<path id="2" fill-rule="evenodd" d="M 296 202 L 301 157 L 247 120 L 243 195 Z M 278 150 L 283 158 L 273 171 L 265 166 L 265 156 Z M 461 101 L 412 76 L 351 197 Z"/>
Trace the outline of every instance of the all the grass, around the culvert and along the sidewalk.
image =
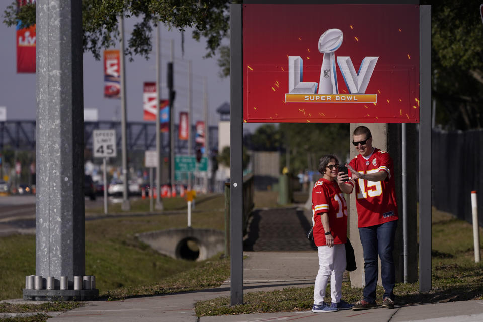
<path id="1" fill-rule="evenodd" d="M 273 207 L 276 202 L 276 192 L 255 194 L 257 208 Z M 119 209 L 115 208 L 118 206 Z M 229 259 L 217 256 L 201 262 L 175 260 L 158 254 L 134 237 L 140 232 L 186 227 L 187 215 L 183 211 L 186 202 L 182 198 L 165 199 L 164 207 L 164 214 L 122 215 L 86 221 L 86 274 L 96 276 L 101 296 L 122 299 L 210 288 L 221 285 L 229 277 Z M 132 202 L 131 208 L 132 212 L 147 212 L 149 201 Z M 102 214 L 103 209 L 89 212 Z M 121 213 L 120 205 L 110 207 L 110 212 Z M 397 303 L 483 299 L 483 264 L 474 263 L 471 225 L 437 210 L 433 211 L 432 222 L 433 289 L 427 294 L 419 294 L 417 283 L 397 284 Z M 223 230 L 223 195 L 199 196 L 196 211 L 192 213 L 192 226 Z M 480 238 L 483 238 L 482 229 Z M 0 238 L 0 259 L 3 285 L 0 299 L 21 298 L 25 276 L 35 274 L 35 236 Z M 378 288 L 379 301 L 382 292 L 382 288 Z M 344 283 L 345 300 L 355 302 L 361 294 L 362 289 L 351 288 L 349 282 Z M 195 310 L 198 316 L 307 310 L 311 308 L 312 296 L 313 287 L 289 288 L 245 294 L 245 303 L 233 307 L 229 306 L 228 297 L 198 302 Z M 74 304 L 55 304 L 44 309 L 37 305 L 0 305 L 0 311 L 45 312 L 67 309 L 65 305 Z M 46 318 L 45 315 L 37 315 L 26 321 L 45 321 Z"/>

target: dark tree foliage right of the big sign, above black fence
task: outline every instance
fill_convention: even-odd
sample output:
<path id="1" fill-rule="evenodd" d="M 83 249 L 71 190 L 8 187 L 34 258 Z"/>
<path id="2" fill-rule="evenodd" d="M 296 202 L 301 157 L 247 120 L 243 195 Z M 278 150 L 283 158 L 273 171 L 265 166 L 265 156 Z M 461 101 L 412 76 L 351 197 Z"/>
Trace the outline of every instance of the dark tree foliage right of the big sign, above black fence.
<path id="1" fill-rule="evenodd" d="M 483 24 L 480 1 L 426 1 L 432 5 L 433 98 L 436 123 L 448 129 L 483 125 Z"/>

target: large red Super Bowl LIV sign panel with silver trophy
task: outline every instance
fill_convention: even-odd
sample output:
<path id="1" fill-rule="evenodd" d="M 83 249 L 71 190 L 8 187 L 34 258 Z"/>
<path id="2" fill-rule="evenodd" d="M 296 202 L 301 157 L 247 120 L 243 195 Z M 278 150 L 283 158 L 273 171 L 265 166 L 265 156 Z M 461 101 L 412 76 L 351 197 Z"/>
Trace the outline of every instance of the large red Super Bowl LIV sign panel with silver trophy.
<path id="1" fill-rule="evenodd" d="M 419 122 L 418 5 L 243 5 L 244 122 Z"/>

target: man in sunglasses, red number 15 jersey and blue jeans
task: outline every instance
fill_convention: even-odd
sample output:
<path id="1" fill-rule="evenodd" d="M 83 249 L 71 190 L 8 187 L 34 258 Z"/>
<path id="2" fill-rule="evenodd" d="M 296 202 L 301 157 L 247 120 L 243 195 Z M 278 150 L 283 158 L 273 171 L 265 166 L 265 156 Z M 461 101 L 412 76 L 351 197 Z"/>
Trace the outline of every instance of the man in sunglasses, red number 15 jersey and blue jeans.
<path id="1" fill-rule="evenodd" d="M 337 182 L 344 193 L 356 192 L 359 236 L 364 250 L 364 298 L 353 310 L 376 308 L 378 256 L 384 287 L 382 306 L 394 307 L 395 268 L 392 251 L 398 213 L 394 183 L 394 165 L 389 153 L 372 146 L 371 131 L 357 127 L 352 144 L 359 155 L 346 165 L 350 175 L 339 173 Z M 349 181 L 346 181 L 350 178 Z"/>

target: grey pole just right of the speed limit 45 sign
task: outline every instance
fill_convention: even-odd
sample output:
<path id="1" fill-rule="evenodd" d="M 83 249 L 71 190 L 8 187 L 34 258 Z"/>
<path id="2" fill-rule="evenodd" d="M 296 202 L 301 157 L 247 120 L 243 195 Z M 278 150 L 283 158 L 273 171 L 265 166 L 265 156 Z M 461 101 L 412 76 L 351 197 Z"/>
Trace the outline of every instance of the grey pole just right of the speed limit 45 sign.
<path id="1" fill-rule="evenodd" d="M 131 209 L 128 199 L 127 186 L 127 144 L 126 144 L 126 68 L 124 59 L 124 17 L 121 15 L 119 19 L 119 32 L 121 34 L 120 45 L 120 63 L 119 71 L 121 73 L 121 148 L 122 148 L 122 206 L 121 209 L 128 211 Z"/>

